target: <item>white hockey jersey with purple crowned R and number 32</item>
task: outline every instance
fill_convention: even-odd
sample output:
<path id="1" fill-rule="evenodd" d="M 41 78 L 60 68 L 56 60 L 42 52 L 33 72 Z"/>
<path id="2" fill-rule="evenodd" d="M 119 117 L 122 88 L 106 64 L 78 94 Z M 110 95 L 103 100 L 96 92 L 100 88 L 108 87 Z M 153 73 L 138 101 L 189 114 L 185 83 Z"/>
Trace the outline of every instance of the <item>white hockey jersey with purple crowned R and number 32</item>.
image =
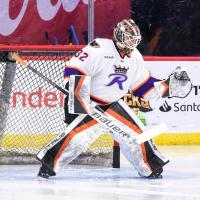
<path id="1" fill-rule="evenodd" d="M 70 75 L 90 76 L 91 99 L 103 105 L 117 101 L 128 90 L 139 88 L 150 77 L 137 49 L 127 57 L 110 39 L 96 39 L 77 52 L 64 71 L 65 78 Z"/>

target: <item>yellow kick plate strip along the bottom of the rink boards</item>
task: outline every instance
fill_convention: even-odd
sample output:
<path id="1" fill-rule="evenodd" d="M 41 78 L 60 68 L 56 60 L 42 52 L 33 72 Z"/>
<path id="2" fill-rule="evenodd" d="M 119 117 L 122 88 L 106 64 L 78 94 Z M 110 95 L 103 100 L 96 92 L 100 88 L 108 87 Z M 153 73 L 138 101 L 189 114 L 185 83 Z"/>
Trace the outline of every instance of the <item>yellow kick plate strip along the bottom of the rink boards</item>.
<path id="1" fill-rule="evenodd" d="M 55 138 L 54 134 L 6 134 L 3 136 L 1 148 L 33 148 L 40 149 Z M 164 133 L 155 139 L 157 145 L 200 145 L 200 133 Z M 96 148 L 101 143 L 101 148 L 112 147 L 113 140 L 109 135 L 100 136 L 90 148 Z"/>

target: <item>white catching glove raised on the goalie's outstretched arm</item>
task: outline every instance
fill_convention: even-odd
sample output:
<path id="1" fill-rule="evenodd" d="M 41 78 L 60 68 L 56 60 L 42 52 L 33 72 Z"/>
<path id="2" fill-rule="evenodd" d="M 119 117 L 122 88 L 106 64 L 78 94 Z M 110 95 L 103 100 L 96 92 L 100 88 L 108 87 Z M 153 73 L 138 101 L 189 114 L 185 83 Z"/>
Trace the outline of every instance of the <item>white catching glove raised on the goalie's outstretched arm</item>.
<path id="1" fill-rule="evenodd" d="M 154 85 L 157 91 L 161 91 L 163 85 L 166 86 L 162 93 L 163 98 L 185 98 L 192 90 L 192 82 L 188 76 L 188 73 L 180 66 L 169 75 L 168 79 L 155 82 Z"/>

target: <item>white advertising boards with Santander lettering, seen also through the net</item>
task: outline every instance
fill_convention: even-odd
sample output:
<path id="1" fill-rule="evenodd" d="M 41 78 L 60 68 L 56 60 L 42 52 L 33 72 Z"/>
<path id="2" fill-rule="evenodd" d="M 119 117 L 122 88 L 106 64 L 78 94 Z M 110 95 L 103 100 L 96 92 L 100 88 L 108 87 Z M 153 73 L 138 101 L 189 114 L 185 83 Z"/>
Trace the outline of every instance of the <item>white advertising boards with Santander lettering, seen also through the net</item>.
<path id="1" fill-rule="evenodd" d="M 52 65 L 49 71 L 53 71 L 53 66 L 55 65 Z M 193 83 L 191 93 L 186 98 L 165 98 L 156 101 L 154 111 L 144 114 L 147 124 L 155 125 L 164 122 L 168 125 L 168 132 L 171 133 L 199 132 L 200 61 L 146 61 L 146 66 L 151 71 L 152 76 L 160 79 L 167 78 L 177 66 L 185 67 Z M 62 85 L 63 67 L 57 66 L 56 71 L 60 72 L 54 77 L 54 81 L 61 87 L 64 87 Z M 29 127 L 31 133 L 37 132 L 41 127 L 43 127 L 42 130 L 45 130 L 45 126 L 57 128 L 58 124 L 59 127 L 65 128 L 63 125 L 64 95 L 47 85 L 43 80 L 40 82 L 35 75 L 24 74 L 25 76 L 20 83 L 16 79 L 13 84 L 14 90 L 9 105 L 8 121 L 12 123 L 14 120 L 20 121 L 20 123 L 15 123 L 20 126 L 19 130 L 27 127 L 31 121 L 32 124 Z M 21 84 L 22 81 L 23 84 Z M 143 110 L 150 110 L 151 103 L 149 105 L 149 102 L 144 99 L 139 100 L 127 96 L 126 100 L 128 100 L 128 105 L 137 105 Z M 34 130 L 32 130 L 33 128 Z M 24 130 L 24 132 L 26 131 Z"/>

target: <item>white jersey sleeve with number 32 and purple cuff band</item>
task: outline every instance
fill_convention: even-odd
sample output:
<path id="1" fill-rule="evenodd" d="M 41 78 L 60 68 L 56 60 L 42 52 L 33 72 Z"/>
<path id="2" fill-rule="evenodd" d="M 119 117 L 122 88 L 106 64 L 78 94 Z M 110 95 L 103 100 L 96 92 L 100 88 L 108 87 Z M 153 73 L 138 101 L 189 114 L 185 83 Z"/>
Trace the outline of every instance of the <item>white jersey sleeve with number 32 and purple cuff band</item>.
<path id="1" fill-rule="evenodd" d="M 70 75 L 93 76 L 95 73 L 95 59 L 100 57 L 101 49 L 93 47 L 91 43 L 78 51 L 68 62 L 64 70 L 64 77 Z"/>

